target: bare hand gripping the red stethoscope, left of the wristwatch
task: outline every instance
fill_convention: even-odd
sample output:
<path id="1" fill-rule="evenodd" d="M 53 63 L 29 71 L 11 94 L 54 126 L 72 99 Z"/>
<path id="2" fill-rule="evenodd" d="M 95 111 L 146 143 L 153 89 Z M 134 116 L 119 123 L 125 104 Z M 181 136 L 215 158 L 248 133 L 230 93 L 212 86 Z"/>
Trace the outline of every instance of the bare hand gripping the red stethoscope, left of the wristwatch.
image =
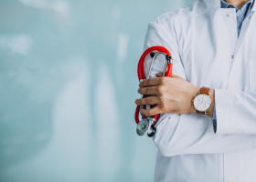
<path id="1" fill-rule="evenodd" d="M 138 106 L 156 104 L 154 108 L 141 109 L 142 114 L 155 116 L 160 113 L 186 114 L 195 112 L 191 101 L 200 90 L 199 87 L 190 84 L 180 76 L 161 77 L 161 73 L 156 74 L 156 76 L 144 80 L 139 85 L 138 93 L 153 96 L 137 99 L 135 104 Z"/>

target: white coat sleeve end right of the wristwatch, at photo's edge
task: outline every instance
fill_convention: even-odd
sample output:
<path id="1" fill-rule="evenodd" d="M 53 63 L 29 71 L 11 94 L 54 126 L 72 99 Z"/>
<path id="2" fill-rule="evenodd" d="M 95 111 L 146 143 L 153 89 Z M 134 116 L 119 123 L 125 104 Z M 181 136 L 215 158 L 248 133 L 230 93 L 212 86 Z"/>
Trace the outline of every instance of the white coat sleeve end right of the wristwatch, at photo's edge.
<path id="1" fill-rule="evenodd" d="M 217 134 L 256 135 L 256 93 L 215 89 Z"/>

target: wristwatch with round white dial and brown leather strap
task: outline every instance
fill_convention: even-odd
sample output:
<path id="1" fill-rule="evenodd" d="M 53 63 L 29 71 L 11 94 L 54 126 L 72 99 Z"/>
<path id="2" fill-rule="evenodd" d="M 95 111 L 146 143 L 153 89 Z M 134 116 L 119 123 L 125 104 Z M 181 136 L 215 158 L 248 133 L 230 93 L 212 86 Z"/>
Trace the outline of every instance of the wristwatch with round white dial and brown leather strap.
<path id="1" fill-rule="evenodd" d="M 208 87 L 201 87 L 197 95 L 195 95 L 194 99 L 192 100 L 192 106 L 195 107 L 195 112 L 197 114 L 206 115 L 207 110 L 211 106 L 211 99 L 209 95 L 209 88 Z"/>

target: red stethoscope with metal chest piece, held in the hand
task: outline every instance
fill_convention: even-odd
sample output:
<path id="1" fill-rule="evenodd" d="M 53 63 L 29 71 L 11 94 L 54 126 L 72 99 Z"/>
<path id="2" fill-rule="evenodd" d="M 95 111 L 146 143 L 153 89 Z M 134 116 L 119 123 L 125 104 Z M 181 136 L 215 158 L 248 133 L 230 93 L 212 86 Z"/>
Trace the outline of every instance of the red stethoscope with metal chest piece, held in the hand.
<path id="1" fill-rule="evenodd" d="M 152 61 L 151 61 L 150 67 L 149 67 L 148 75 L 145 78 L 145 76 L 144 76 L 144 58 L 148 54 L 150 54 Z M 152 46 L 144 51 L 144 54 L 141 56 L 141 58 L 139 60 L 137 71 L 138 71 L 138 77 L 139 77 L 140 82 L 149 78 L 153 64 L 155 62 L 155 57 L 159 56 L 159 55 L 165 56 L 165 69 L 164 69 L 163 76 L 169 76 L 169 77 L 172 76 L 173 59 L 172 59 L 170 52 L 163 46 Z M 146 96 L 142 95 L 141 98 L 144 98 L 144 97 L 146 97 Z M 153 106 L 151 106 L 151 107 L 153 107 Z M 135 121 L 136 121 L 136 124 L 138 124 L 136 127 L 136 132 L 139 136 L 144 136 L 145 134 L 147 134 L 147 136 L 149 136 L 149 137 L 155 136 L 155 133 L 156 133 L 155 125 L 160 117 L 160 114 L 155 115 L 155 116 L 144 116 L 143 114 L 141 114 L 142 120 L 140 121 L 139 113 L 142 108 L 145 109 L 146 106 L 137 106 L 136 107 Z"/>

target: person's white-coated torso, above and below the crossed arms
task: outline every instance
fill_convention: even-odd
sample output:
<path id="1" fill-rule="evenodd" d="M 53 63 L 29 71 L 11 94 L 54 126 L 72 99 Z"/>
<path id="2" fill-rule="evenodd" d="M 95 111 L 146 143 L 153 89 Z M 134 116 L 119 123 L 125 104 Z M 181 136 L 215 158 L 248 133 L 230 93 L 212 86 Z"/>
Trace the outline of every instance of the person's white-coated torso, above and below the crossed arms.
<path id="1" fill-rule="evenodd" d="M 254 8 L 244 20 L 239 38 L 233 8 L 210 7 L 200 0 L 171 14 L 188 82 L 195 86 L 256 92 Z M 181 116 L 180 128 L 188 122 L 187 115 Z M 255 168 L 256 150 L 175 157 L 163 157 L 158 152 L 155 181 L 253 182 Z"/>

